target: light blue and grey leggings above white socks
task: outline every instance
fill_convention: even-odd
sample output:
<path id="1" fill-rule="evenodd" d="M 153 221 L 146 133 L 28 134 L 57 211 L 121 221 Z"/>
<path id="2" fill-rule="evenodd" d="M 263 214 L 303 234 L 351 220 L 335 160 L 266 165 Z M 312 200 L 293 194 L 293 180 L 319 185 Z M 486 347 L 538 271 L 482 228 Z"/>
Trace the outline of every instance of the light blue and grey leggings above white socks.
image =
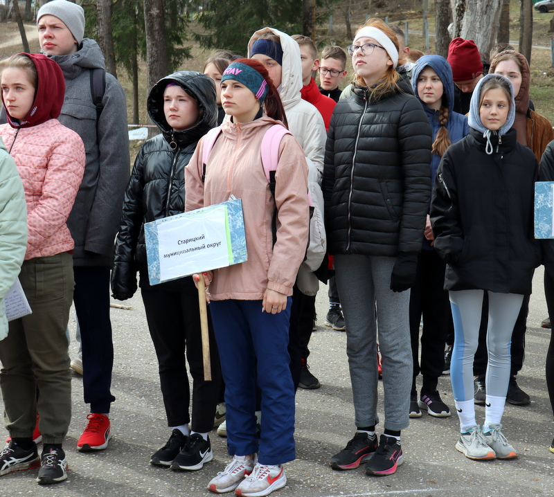
<path id="1" fill-rule="evenodd" d="M 454 318 L 450 381 L 454 399 L 458 402 L 473 399 L 473 359 L 479 342 L 483 294 L 483 290 L 449 292 Z M 485 389 L 488 395 L 506 397 L 510 382 L 512 331 L 524 296 L 518 293 L 492 291 L 488 292 L 488 296 L 488 365 Z"/>

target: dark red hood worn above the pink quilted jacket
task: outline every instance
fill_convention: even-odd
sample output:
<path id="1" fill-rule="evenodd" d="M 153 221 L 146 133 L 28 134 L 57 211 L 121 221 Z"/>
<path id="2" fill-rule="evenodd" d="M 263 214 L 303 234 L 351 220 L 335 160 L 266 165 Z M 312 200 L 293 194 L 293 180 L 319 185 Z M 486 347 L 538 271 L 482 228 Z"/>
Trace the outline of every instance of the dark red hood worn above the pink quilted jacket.
<path id="1" fill-rule="evenodd" d="M 33 61 L 37 68 L 37 88 L 35 89 L 35 100 L 26 118 L 19 122 L 12 119 L 8 111 L 6 118 L 11 127 L 32 127 L 47 120 L 60 116 L 62 105 L 64 105 L 65 81 L 60 66 L 53 60 L 42 54 L 23 53 Z M 2 94 L 2 103 L 6 109 Z"/>

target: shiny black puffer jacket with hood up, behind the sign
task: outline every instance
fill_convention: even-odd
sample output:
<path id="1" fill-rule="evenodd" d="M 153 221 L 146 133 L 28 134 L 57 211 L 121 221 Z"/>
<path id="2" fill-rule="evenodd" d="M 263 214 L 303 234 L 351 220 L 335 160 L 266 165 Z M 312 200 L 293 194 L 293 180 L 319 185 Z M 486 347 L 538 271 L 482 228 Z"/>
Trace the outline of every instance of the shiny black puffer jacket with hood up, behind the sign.
<path id="1" fill-rule="evenodd" d="M 163 114 L 163 92 L 169 82 L 177 82 L 199 103 L 199 123 L 174 132 Z M 144 224 L 184 213 L 184 169 L 202 136 L 217 125 L 215 87 L 208 76 L 195 71 L 179 71 L 157 82 L 148 96 L 148 114 L 161 129 L 136 156 L 131 179 L 125 191 L 123 215 L 116 240 L 111 290 L 114 298 L 125 300 L 136 291 L 136 271 L 141 272 L 141 287 L 148 285 L 148 264 Z M 172 150 L 170 143 L 177 145 Z M 157 285 L 159 289 L 195 292 L 192 278 L 181 278 Z"/>

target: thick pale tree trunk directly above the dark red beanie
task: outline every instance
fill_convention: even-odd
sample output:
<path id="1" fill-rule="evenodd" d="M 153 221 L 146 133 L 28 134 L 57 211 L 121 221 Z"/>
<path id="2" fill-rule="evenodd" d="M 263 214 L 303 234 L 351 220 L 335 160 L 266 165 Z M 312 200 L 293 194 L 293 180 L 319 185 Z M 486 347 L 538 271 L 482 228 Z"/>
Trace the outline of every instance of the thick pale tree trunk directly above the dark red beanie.
<path id="1" fill-rule="evenodd" d="M 467 0 L 466 2 L 460 36 L 474 40 L 481 57 L 488 58 L 497 37 L 501 1 Z"/>

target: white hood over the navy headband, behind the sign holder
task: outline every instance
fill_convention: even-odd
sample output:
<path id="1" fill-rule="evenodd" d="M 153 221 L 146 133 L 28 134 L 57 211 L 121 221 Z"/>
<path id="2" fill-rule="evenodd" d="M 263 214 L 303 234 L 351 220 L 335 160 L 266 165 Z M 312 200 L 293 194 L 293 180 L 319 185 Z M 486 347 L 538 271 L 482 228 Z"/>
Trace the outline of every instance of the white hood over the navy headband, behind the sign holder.
<path id="1" fill-rule="evenodd" d="M 252 45 L 262 33 L 273 33 L 280 39 L 281 48 L 283 48 L 283 64 L 281 75 L 280 98 L 283 102 L 285 111 L 294 106 L 302 96 L 300 91 L 303 87 L 302 83 L 302 62 L 300 58 L 300 47 L 287 33 L 283 33 L 274 28 L 263 28 L 252 35 L 248 42 L 248 57 L 252 51 Z"/>

